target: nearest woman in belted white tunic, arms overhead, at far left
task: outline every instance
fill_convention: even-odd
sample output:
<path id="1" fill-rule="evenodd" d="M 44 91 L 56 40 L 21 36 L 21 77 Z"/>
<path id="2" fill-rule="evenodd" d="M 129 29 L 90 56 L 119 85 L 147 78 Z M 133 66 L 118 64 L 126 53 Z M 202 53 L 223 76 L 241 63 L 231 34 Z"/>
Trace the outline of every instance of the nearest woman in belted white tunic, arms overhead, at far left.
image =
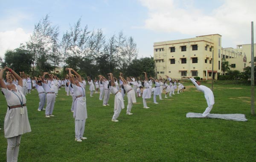
<path id="1" fill-rule="evenodd" d="M 18 80 L 15 84 L 6 84 L 3 81 L 3 72 L 9 70 Z M 26 97 L 22 93 L 22 78 L 9 67 L 0 70 L 0 87 L 5 95 L 8 110 L 4 119 L 4 134 L 7 138 L 7 162 L 17 162 L 21 135 L 31 132 L 28 113 L 26 108 Z M 17 89 L 16 89 L 17 88 Z"/>

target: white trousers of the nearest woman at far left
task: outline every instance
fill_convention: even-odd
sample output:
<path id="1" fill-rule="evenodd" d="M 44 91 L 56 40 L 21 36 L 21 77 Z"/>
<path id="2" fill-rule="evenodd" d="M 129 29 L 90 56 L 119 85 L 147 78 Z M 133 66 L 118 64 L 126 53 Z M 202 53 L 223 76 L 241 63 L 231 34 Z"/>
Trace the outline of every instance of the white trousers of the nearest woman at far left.
<path id="1" fill-rule="evenodd" d="M 17 162 L 20 150 L 21 135 L 7 138 L 7 162 Z"/>

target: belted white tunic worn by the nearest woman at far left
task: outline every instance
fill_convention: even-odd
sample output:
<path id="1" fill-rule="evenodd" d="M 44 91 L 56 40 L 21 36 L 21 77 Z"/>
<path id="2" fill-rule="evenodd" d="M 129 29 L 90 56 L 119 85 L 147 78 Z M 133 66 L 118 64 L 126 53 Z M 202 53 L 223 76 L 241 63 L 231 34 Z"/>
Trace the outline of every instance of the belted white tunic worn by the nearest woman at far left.
<path id="1" fill-rule="evenodd" d="M 22 90 L 23 88 L 19 85 L 17 86 L 17 92 L 2 88 L 8 106 L 20 105 L 20 101 L 22 104 L 26 104 L 26 97 L 23 95 Z M 23 106 L 23 109 L 24 114 L 20 114 L 21 107 L 13 109 L 7 108 L 7 113 L 4 119 L 5 138 L 11 138 L 31 132 L 26 106 Z"/>

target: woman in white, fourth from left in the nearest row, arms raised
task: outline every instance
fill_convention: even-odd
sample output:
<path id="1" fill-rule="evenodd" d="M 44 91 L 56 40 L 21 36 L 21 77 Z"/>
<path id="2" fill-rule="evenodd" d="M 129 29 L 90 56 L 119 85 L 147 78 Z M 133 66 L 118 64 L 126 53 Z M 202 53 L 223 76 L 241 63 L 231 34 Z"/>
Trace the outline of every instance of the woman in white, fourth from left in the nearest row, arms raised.
<path id="1" fill-rule="evenodd" d="M 122 77 L 122 72 L 120 72 L 119 78 L 122 80 L 123 86 L 124 86 L 125 91 L 127 93 L 128 105 L 127 105 L 126 114 L 127 115 L 132 115 L 133 114 L 133 113 L 131 113 L 132 104 L 137 102 L 136 97 L 135 97 L 135 92 L 132 89 L 132 87 L 127 83 L 127 81 Z"/>

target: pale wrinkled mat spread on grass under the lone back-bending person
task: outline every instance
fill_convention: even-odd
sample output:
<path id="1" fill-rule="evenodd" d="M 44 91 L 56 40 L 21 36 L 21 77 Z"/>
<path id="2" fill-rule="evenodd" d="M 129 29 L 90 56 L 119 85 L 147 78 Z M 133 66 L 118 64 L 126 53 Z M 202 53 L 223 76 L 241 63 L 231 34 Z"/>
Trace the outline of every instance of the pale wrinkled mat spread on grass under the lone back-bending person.
<path id="1" fill-rule="evenodd" d="M 202 113 L 187 113 L 186 117 L 187 118 L 218 118 L 218 119 L 234 120 L 234 121 L 241 121 L 241 122 L 247 121 L 244 114 L 209 114 L 206 117 L 204 117 L 202 116 Z"/>

